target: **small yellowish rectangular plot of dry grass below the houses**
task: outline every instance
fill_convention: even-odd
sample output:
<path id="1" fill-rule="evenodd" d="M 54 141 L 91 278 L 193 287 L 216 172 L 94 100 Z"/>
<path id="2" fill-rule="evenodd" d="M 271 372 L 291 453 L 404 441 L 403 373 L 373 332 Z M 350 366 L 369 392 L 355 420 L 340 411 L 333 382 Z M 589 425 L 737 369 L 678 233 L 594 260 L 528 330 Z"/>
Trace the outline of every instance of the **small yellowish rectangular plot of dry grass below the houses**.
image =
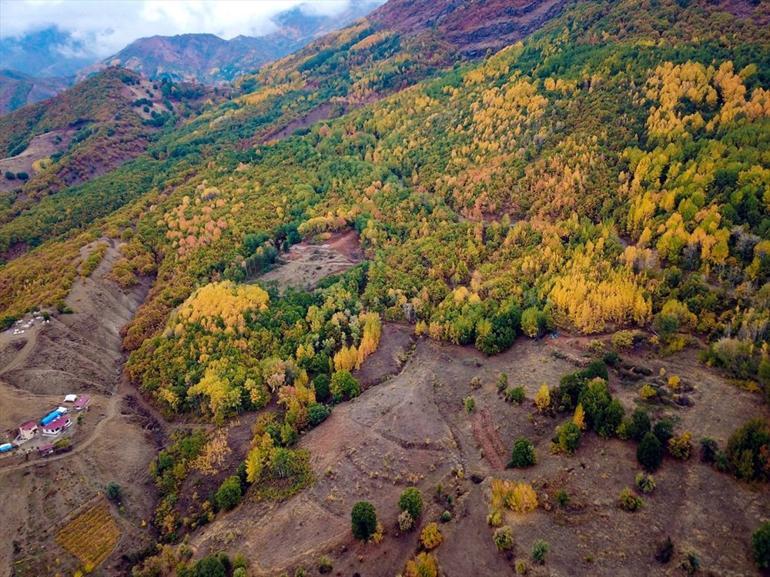
<path id="1" fill-rule="evenodd" d="M 56 542 L 77 557 L 87 570 L 93 570 L 115 548 L 120 529 L 106 501 L 100 501 L 67 523 Z"/>

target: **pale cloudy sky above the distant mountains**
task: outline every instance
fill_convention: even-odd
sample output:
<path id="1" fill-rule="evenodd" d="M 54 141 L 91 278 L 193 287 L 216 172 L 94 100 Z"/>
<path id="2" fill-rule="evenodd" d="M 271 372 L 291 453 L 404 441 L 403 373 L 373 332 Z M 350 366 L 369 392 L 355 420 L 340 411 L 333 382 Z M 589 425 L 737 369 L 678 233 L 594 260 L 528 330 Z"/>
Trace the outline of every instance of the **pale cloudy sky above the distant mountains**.
<path id="1" fill-rule="evenodd" d="M 222 38 L 271 31 L 270 17 L 298 5 L 334 14 L 357 0 L 0 0 L 0 38 L 57 26 L 99 56 L 154 34 Z"/>

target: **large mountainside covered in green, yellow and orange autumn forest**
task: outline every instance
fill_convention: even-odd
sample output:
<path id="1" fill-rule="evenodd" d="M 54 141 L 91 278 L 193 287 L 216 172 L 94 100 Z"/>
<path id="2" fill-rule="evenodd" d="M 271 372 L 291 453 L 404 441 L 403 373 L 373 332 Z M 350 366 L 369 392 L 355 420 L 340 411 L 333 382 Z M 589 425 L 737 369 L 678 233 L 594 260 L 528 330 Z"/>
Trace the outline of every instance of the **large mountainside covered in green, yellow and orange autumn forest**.
<path id="1" fill-rule="evenodd" d="M 243 77 L 146 154 L 6 210 L 0 314 L 63 309 L 80 249 L 120 239 L 114 281 L 154 278 L 123 332 L 128 377 L 169 418 L 267 409 L 238 473 L 266 500 L 310 483 L 298 436 L 359 394 L 349 371 L 383 321 L 485 355 L 555 331 L 700 348 L 770 402 L 769 14 L 767 0 L 390 2 Z M 292 245 L 353 229 L 359 266 L 313 292 L 260 284 Z M 629 433 L 606 379 L 599 363 L 543 385 L 538 411 L 580 405 L 578 440 L 652 436 L 649 419 Z M 753 426 L 719 466 L 767 480 L 770 433 Z M 574 452 L 572 433 L 556 447 Z M 213 500 L 181 510 L 196 435 L 153 465 L 168 542 L 214 518 Z M 497 509 L 529 508 L 501 483 Z M 170 551 L 136 574 L 184 565 Z M 407 575 L 436 574 L 421 555 Z"/>

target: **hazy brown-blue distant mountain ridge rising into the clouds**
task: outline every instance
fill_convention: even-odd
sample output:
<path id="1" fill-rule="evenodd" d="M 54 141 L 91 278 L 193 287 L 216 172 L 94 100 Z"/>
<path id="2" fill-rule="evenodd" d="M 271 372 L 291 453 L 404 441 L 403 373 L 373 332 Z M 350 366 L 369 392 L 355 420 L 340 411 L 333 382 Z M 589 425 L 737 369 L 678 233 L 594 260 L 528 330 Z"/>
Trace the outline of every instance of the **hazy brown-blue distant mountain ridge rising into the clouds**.
<path id="1" fill-rule="evenodd" d="M 266 36 L 237 36 L 231 40 L 214 34 L 140 38 L 114 56 L 85 68 L 80 77 L 107 66 L 122 66 L 151 79 L 228 82 L 365 16 L 381 3 L 382 0 L 351 3 L 347 10 L 334 16 L 294 8 L 276 16 L 274 23 L 278 28 Z"/>

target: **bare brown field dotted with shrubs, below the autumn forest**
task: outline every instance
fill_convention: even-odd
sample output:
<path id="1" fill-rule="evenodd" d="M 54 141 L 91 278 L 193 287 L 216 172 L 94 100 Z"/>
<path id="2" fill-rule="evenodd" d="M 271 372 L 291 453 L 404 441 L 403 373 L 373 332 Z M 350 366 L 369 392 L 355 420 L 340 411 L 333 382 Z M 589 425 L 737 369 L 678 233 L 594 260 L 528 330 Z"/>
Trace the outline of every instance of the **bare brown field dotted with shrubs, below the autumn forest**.
<path id="1" fill-rule="evenodd" d="M 395 337 L 392 331 L 384 335 L 387 349 Z M 303 437 L 317 477 L 314 486 L 280 504 L 246 501 L 194 534 L 193 548 L 199 555 L 220 549 L 243 553 L 255 575 L 298 566 L 316 575 L 318 559 L 327 555 L 334 574 L 393 576 L 417 551 L 418 532 L 399 535 L 396 527 L 398 495 L 416 485 L 426 500 L 423 525 L 444 509 L 452 513 L 452 520 L 441 524 L 445 542 L 435 550 L 444 575 L 510 575 L 512 560 L 496 551 L 486 522 L 489 484 L 504 478 L 531 482 L 538 492 L 537 511 L 506 518 L 514 529 L 515 557 L 529 559 L 538 539 L 550 543 L 546 565 L 530 562 L 531 575 L 678 574 L 690 551 L 701 559 L 704 574 L 756 575 L 749 542 L 753 529 L 770 516 L 768 487 L 739 483 L 697 456 L 687 462 L 667 458 L 644 508 L 627 513 L 617 497 L 623 487 L 633 487 L 639 471 L 632 443 L 588 434 L 575 456 L 551 454 L 553 431 L 565 417 L 537 415 L 531 399 L 542 383 L 554 385 L 575 370 L 575 362 L 584 362 L 587 342 L 520 339 L 511 350 L 485 358 L 468 348 L 418 341 L 397 375 L 335 408 Z M 656 411 L 671 414 L 678 430 L 690 430 L 696 442 L 710 435 L 724 443 L 745 419 L 768 415 L 758 396 L 700 366 L 692 352 L 663 361 L 642 354 L 630 359 L 656 371 L 665 366 L 692 382 L 693 406 Z M 501 371 L 511 385 L 524 386 L 529 399 L 524 405 L 498 396 Z M 474 390 L 469 382 L 476 376 L 483 384 Z M 639 385 L 624 384 L 617 374 L 611 382 L 632 409 Z M 472 415 L 463 408 L 468 395 L 476 400 Z M 535 443 L 538 464 L 524 471 L 501 469 L 519 436 Z M 439 485 L 452 495 L 451 505 L 435 497 Z M 566 508 L 556 505 L 559 489 L 570 495 Z M 350 535 L 350 510 L 360 499 L 375 504 L 384 525 L 378 545 L 357 544 Z M 659 565 L 653 555 L 667 536 L 675 543 L 674 560 Z"/>

